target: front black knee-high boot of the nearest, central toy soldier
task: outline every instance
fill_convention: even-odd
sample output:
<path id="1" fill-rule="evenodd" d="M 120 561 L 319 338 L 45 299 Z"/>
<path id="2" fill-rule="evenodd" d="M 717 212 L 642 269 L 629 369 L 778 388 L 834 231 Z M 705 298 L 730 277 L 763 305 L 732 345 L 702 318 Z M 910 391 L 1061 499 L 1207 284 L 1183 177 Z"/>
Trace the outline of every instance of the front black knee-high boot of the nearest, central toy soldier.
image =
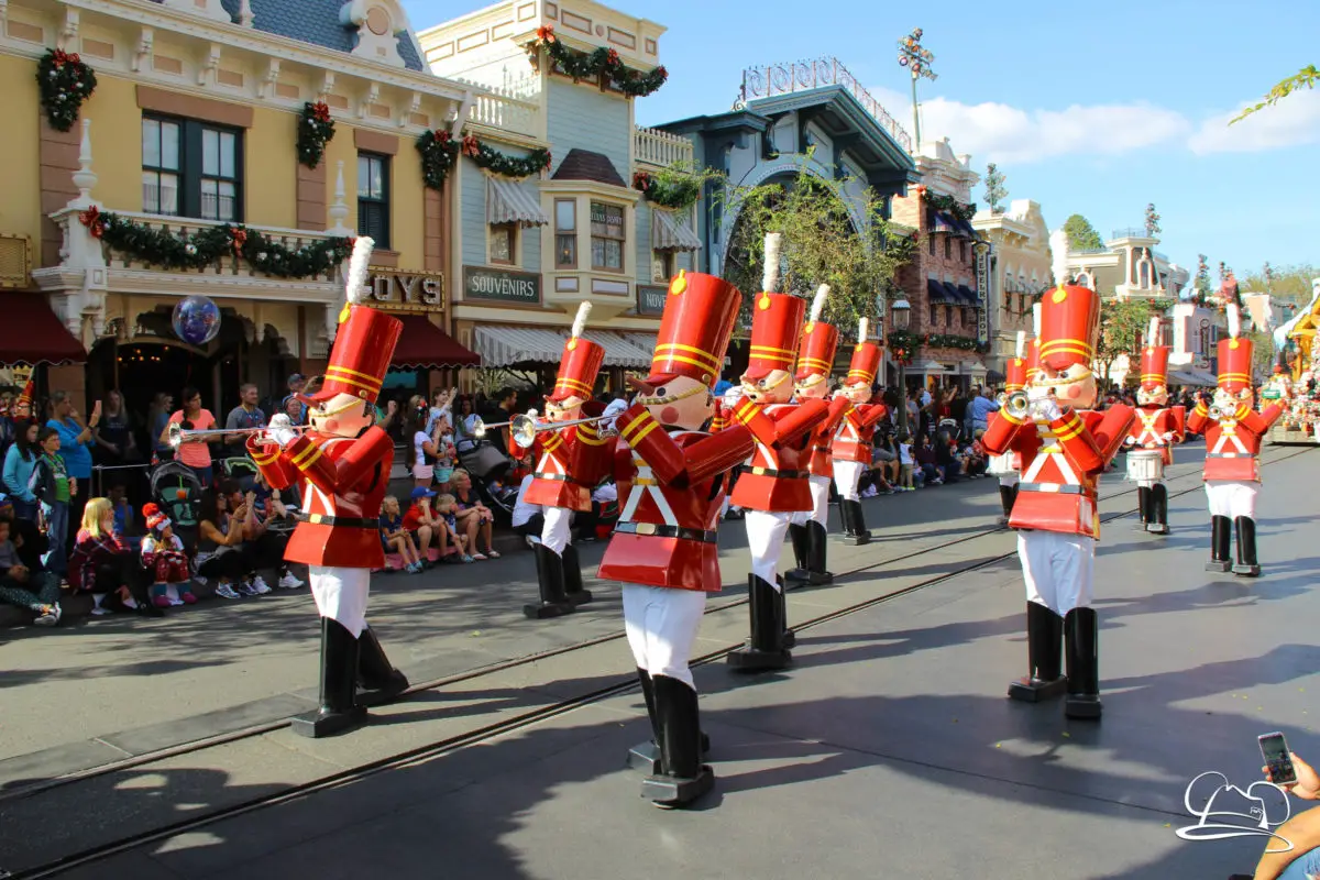
<path id="1" fill-rule="evenodd" d="M 715 774 L 701 763 L 697 691 L 668 676 L 655 676 L 652 682 L 661 769 L 642 782 L 642 797 L 661 807 L 685 806 L 715 784 Z"/>

